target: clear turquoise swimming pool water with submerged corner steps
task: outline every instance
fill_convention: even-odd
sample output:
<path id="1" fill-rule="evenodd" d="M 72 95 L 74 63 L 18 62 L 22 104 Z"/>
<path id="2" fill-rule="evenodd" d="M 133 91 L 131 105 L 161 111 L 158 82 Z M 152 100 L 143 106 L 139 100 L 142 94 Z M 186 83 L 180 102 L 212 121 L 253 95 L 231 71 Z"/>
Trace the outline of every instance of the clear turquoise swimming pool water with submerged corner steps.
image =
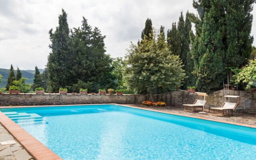
<path id="1" fill-rule="evenodd" d="M 0 109 L 64 160 L 255 160 L 256 129 L 116 105 Z"/>

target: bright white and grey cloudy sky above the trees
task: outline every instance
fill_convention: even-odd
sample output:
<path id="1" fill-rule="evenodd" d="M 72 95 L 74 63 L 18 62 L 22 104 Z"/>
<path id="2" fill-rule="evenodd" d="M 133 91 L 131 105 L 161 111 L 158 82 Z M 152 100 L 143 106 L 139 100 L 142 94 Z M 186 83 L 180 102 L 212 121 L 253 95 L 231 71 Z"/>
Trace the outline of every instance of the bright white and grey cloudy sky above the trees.
<path id="1" fill-rule="evenodd" d="M 192 0 L 0 0 L 0 68 L 44 68 L 50 52 L 48 31 L 58 25 L 62 8 L 70 28 L 80 26 L 82 16 L 98 27 L 113 58 L 124 56 L 130 41 L 138 41 L 146 18 L 155 28 L 163 25 L 167 30 L 182 10 L 196 13 Z M 256 10 L 252 14 L 256 17 Z"/>

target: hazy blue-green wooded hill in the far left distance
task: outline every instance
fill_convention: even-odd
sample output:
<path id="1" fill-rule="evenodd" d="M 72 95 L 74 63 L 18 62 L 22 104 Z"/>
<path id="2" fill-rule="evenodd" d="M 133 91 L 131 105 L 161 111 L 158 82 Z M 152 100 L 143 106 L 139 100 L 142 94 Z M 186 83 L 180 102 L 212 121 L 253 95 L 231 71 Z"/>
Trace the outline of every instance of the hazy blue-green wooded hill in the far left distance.
<path id="1" fill-rule="evenodd" d="M 39 69 L 40 73 L 44 72 L 44 69 Z M 0 74 L 2 75 L 2 83 L 0 83 L 0 88 L 4 88 L 7 83 L 7 78 L 9 76 L 9 69 L 0 68 Z M 33 84 L 35 70 L 21 70 L 22 77 L 27 78 L 26 83 Z M 14 70 L 15 76 L 17 70 Z"/>

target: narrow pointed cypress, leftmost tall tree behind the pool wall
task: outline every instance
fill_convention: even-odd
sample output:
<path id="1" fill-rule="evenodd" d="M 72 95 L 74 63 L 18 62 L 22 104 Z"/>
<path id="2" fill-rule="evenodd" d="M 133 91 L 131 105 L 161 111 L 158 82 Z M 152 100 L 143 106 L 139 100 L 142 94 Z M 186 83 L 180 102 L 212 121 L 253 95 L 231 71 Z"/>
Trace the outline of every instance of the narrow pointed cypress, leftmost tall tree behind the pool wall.
<path id="1" fill-rule="evenodd" d="M 59 15 L 59 26 L 56 27 L 55 32 L 51 29 L 49 31 L 50 41 L 49 45 L 51 52 L 48 56 L 48 77 L 49 85 L 52 92 L 57 92 L 60 87 L 67 86 L 71 77 L 74 75 L 72 62 L 70 58 L 70 37 L 67 22 L 67 14 L 62 9 L 62 14 Z"/>

